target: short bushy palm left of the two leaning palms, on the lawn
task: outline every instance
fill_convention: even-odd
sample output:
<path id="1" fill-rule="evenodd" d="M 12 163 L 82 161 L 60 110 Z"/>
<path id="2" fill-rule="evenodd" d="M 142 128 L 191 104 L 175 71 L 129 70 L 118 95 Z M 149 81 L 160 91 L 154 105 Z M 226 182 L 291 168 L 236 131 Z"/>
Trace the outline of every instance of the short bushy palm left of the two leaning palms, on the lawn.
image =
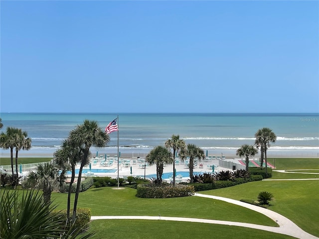
<path id="1" fill-rule="evenodd" d="M 29 187 L 39 185 L 43 188 L 43 201 L 50 204 L 51 193 L 55 185 L 61 185 L 65 180 L 65 170 L 60 171 L 53 162 L 45 162 L 36 166 L 36 171 L 31 171 L 26 182 Z"/>

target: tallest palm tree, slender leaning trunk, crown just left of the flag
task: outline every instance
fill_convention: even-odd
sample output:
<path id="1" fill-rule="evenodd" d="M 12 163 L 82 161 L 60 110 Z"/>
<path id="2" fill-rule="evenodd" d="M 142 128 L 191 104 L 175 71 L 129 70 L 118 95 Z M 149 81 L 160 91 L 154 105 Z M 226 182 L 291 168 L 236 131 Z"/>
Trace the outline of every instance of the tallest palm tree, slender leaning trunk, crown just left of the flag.
<path id="1" fill-rule="evenodd" d="M 83 157 L 81 154 L 81 165 L 79 169 L 79 176 L 76 185 L 74 207 L 73 207 L 73 217 L 72 221 L 76 218 L 76 207 L 79 197 L 80 184 L 81 184 L 81 174 L 83 167 L 88 164 L 88 158 L 91 154 L 90 147 L 95 145 L 98 148 L 105 147 L 110 141 L 110 136 L 99 127 L 99 123 L 95 120 L 85 119 L 83 124 L 78 125 L 69 134 L 69 139 L 72 145 L 76 145 L 83 148 Z"/>

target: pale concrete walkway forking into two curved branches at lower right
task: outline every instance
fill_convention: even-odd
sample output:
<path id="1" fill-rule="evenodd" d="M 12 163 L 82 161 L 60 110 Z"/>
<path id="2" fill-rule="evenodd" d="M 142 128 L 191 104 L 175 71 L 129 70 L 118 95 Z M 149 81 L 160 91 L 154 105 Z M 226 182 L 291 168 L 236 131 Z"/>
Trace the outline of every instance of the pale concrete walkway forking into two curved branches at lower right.
<path id="1" fill-rule="evenodd" d="M 198 218 L 178 218 L 178 217 L 161 217 L 161 216 L 92 216 L 91 220 L 99 220 L 99 219 L 140 219 L 140 220 L 165 220 L 165 221 L 179 221 L 179 222 L 195 222 L 195 223 L 209 223 L 209 224 L 220 224 L 220 225 L 229 225 L 229 226 L 238 226 L 238 227 L 246 227 L 258 230 L 264 230 L 273 233 L 284 234 L 288 236 L 292 236 L 298 239 L 319 239 L 309 233 L 306 233 L 301 228 L 299 228 L 295 223 L 293 223 L 288 218 L 268 210 L 266 208 L 258 207 L 255 205 L 251 205 L 248 203 L 240 202 L 237 200 L 211 196 L 211 195 L 204 195 L 195 193 L 194 196 L 197 197 L 204 197 L 204 198 L 211 198 L 215 200 L 221 200 L 224 202 L 236 204 L 241 207 L 248 208 L 250 210 L 259 212 L 264 214 L 265 216 L 269 217 L 270 219 L 277 222 L 279 227 L 270 227 L 270 226 L 262 226 L 256 224 L 249 224 L 249 223 L 238 223 L 238 222 L 229 222 L 229 221 L 219 221 L 219 220 L 207 220 L 207 219 L 198 219 Z"/>

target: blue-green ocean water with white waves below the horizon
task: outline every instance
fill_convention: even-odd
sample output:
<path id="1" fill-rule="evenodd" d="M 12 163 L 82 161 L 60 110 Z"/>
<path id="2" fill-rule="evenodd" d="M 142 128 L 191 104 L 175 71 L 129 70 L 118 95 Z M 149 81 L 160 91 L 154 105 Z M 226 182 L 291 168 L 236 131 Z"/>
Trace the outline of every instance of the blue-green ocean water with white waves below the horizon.
<path id="1" fill-rule="evenodd" d="M 32 139 L 32 148 L 20 156 L 52 156 L 68 133 L 84 119 L 96 120 L 101 128 L 117 114 L 1 113 L 2 131 L 7 126 L 21 128 Z M 254 134 L 262 127 L 277 135 L 268 154 L 314 156 L 319 154 L 319 114 L 119 114 L 121 153 L 145 156 L 152 148 L 163 145 L 172 134 L 186 143 L 194 143 L 210 155 L 235 155 L 242 144 L 254 144 Z M 99 154 L 117 153 L 117 132 L 104 149 L 92 147 Z M 9 150 L 1 149 L 1 156 Z"/>

